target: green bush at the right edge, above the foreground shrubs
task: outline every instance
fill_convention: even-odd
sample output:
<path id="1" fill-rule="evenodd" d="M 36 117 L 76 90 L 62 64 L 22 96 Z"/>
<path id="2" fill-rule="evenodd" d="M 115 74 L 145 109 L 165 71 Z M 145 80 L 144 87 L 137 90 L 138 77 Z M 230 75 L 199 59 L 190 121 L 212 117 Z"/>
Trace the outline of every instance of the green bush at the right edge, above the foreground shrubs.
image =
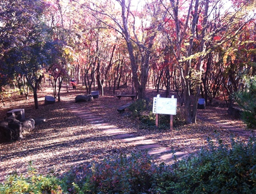
<path id="1" fill-rule="evenodd" d="M 256 128 L 256 76 L 244 78 L 245 88 L 234 93 L 234 99 L 244 110 L 242 119 L 249 128 Z"/>

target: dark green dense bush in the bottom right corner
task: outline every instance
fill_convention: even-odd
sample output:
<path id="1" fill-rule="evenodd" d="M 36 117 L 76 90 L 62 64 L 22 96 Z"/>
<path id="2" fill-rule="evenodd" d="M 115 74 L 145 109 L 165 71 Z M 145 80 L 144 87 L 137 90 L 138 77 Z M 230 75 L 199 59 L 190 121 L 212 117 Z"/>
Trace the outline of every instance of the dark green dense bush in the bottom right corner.
<path id="1" fill-rule="evenodd" d="M 173 193 L 256 193 L 255 137 L 247 144 L 232 140 L 231 149 L 221 139 L 219 146 L 211 141 L 209 146 L 173 165 L 175 179 L 168 189 Z"/>

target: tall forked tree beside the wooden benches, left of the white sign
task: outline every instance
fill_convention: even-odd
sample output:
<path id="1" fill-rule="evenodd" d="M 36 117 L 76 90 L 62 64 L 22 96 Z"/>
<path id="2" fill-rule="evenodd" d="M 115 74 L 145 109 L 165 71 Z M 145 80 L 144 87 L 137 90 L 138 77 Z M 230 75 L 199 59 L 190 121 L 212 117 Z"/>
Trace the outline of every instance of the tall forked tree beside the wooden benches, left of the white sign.
<path id="1" fill-rule="evenodd" d="M 145 98 L 152 47 L 165 17 L 160 2 L 147 2 L 143 11 L 134 9 L 131 0 L 109 1 L 108 4 L 87 1 L 81 6 L 125 39 L 138 98 Z"/>

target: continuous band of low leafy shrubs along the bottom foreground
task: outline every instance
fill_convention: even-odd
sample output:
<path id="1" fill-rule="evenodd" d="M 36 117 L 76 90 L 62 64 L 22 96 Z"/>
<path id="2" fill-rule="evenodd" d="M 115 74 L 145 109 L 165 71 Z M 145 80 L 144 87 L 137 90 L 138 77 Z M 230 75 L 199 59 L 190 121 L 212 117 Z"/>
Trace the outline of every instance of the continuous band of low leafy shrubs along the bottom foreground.
<path id="1" fill-rule="evenodd" d="M 73 167 L 61 177 L 10 175 L 0 193 L 256 193 L 256 138 L 218 140 L 173 165 L 155 164 L 144 152 Z"/>

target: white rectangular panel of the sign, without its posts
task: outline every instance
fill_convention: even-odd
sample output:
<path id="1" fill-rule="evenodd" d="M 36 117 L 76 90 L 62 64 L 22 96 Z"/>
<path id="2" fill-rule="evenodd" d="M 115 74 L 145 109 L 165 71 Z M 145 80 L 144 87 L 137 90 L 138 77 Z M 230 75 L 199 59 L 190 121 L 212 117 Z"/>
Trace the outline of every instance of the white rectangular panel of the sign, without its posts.
<path id="1" fill-rule="evenodd" d="M 159 96 L 159 95 L 158 95 Z M 155 114 L 172 114 L 176 115 L 177 99 L 159 98 L 153 99 L 153 113 Z"/>

